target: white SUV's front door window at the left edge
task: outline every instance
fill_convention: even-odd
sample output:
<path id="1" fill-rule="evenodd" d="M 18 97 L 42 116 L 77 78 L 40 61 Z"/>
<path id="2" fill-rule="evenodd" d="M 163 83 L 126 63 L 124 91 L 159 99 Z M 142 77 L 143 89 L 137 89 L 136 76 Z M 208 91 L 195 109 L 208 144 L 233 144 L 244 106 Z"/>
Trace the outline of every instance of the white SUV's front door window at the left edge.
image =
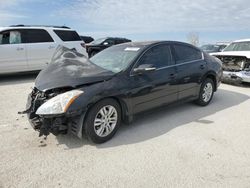
<path id="1" fill-rule="evenodd" d="M 0 34 L 0 44 L 20 44 L 21 42 L 19 31 L 6 31 Z"/>

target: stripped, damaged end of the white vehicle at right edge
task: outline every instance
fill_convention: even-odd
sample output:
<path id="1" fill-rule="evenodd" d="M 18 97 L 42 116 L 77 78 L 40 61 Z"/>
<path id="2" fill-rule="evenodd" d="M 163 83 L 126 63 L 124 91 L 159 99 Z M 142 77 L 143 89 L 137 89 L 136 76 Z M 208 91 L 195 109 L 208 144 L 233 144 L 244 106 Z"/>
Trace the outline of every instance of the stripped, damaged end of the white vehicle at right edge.
<path id="1" fill-rule="evenodd" d="M 224 82 L 250 83 L 250 59 L 245 56 L 215 55 L 223 64 Z"/>

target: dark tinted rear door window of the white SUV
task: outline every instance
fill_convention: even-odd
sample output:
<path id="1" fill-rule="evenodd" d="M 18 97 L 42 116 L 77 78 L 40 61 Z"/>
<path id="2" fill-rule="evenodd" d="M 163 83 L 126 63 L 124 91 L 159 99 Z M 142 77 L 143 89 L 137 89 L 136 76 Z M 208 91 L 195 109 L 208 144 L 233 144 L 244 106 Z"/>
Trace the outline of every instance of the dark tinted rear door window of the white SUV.
<path id="1" fill-rule="evenodd" d="M 23 29 L 22 37 L 24 43 L 54 42 L 50 34 L 43 29 Z"/>

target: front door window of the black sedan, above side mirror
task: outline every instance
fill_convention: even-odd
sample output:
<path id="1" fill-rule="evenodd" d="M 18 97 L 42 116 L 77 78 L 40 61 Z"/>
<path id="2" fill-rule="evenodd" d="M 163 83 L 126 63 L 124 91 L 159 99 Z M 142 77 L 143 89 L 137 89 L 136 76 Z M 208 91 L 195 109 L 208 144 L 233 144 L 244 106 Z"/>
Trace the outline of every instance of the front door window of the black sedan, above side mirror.
<path id="1" fill-rule="evenodd" d="M 140 59 L 139 65 L 152 64 L 155 68 L 172 65 L 172 57 L 169 45 L 158 45 L 149 49 Z"/>

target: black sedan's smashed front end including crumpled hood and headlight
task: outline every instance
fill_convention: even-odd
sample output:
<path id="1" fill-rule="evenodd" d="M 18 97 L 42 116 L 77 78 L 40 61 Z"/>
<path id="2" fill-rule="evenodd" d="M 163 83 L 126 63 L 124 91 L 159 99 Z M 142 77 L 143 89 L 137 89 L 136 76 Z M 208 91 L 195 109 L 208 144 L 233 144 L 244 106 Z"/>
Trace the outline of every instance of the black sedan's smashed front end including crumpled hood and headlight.
<path id="1" fill-rule="evenodd" d="M 108 80 L 113 75 L 75 50 L 60 46 L 51 63 L 37 76 L 23 113 L 28 114 L 39 136 L 71 132 L 81 138 L 88 105 L 84 87 Z"/>

